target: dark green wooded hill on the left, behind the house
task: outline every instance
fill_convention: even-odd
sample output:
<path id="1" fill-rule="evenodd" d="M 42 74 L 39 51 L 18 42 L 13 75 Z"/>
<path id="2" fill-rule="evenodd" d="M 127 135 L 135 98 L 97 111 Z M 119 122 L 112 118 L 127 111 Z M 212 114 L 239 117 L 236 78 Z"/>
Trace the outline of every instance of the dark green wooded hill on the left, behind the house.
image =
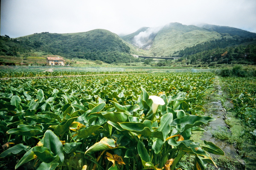
<path id="1" fill-rule="evenodd" d="M 130 62 L 134 59 L 130 54 L 137 52 L 131 44 L 104 29 L 70 34 L 43 32 L 16 39 L 8 36 L 0 39 L 1 55 L 25 55 L 31 51 L 107 63 Z"/>

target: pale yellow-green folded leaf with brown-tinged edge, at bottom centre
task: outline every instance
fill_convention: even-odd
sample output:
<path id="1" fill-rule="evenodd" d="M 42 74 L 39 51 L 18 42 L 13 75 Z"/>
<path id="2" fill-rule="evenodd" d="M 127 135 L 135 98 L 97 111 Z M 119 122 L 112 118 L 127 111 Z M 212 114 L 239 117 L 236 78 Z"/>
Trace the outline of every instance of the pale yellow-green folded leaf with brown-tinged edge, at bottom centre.
<path id="1" fill-rule="evenodd" d="M 96 152 L 101 150 L 109 150 L 116 147 L 115 140 L 114 139 L 108 139 L 107 137 L 102 138 L 99 142 L 96 142 L 93 144 L 93 146 L 89 147 L 85 154 L 87 152 Z"/>

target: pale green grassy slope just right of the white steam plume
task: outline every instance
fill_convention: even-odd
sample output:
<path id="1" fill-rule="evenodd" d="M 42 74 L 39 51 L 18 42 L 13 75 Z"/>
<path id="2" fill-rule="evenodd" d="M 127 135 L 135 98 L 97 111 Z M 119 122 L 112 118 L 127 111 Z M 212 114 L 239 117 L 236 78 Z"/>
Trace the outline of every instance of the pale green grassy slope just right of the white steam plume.
<path id="1" fill-rule="evenodd" d="M 210 40 L 221 39 L 217 32 L 206 31 L 196 26 L 171 23 L 161 29 L 149 49 L 155 56 L 171 56 L 176 51 Z"/>

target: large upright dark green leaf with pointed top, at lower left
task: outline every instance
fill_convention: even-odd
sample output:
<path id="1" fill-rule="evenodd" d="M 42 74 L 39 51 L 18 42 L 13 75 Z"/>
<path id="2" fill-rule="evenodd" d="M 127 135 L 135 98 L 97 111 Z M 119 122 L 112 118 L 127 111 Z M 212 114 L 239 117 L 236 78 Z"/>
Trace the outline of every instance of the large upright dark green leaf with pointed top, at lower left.
<path id="1" fill-rule="evenodd" d="M 44 147 L 47 147 L 52 153 L 60 157 L 61 162 L 64 161 L 63 147 L 61 141 L 51 130 L 44 133 Z"/>

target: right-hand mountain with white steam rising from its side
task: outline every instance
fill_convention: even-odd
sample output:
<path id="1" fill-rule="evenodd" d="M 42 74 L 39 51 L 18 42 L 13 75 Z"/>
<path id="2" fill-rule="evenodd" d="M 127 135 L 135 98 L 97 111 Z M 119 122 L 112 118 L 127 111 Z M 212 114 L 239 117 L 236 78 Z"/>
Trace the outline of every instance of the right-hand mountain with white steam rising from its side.
<path id="1" fill-rule="evenodd" d="M 180 23 L 169 23 L 158 28 L 140 28 L 138 31 L 122 37 L 124 40 L 148 51 L 152 56 L 169 57 L 177 55 L 180 50 L 213 40 L 232 41 L 234 45 L 251 41 L 256 33 L 226 26 L 186 26 Z M 249 40 L 250 39 L 250 40 Z M 230 45 L 225 43 L 226 46 Z M 226 47 L 225 46 L 225 47 Z"/>

